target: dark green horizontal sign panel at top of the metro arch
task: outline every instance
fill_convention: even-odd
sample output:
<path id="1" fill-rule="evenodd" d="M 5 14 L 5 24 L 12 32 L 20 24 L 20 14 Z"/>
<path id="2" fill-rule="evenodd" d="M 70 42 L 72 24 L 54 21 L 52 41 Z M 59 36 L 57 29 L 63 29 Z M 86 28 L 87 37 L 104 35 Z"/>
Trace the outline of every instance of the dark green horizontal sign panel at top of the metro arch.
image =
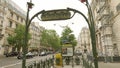
<path id="1" fill-rule="evenodd" d="M 66 9 L 43 11 L 42 21 L 66 20 L 71 18 L 71 13 Z"/>

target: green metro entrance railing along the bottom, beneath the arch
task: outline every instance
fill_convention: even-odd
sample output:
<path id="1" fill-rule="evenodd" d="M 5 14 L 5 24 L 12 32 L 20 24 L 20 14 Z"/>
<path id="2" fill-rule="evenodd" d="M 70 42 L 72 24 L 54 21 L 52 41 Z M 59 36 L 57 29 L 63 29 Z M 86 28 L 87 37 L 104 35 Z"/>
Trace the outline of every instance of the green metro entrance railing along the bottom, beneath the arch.
<path id="1" fill-rule="evenodd" d="M 56 63 L 56 58 L 52 57 L 45 60 L 32 61 L 26 64 L 26 68 L 56 68 L 57 66 L 64 68 L 64 66 L 66 65 L 69 65 L 72 68 L 75 68 L 75 66 L 78 65 L 82 66 L 83 68 L 95 68 L 93 62 L 89 61 L 88 59 L 85 59 L 82 56 L 74 56 L 73 58 L 64 57 L 62 61 L 63 61 L 63 66 L 59 65 L 60 62 Z"/>

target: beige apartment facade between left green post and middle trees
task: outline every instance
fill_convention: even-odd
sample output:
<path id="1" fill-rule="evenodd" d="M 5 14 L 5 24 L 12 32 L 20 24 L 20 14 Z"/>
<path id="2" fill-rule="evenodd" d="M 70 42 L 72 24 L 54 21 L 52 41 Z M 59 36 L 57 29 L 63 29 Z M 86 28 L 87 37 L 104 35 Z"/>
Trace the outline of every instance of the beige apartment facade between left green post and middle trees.
<path id="1" fill-rule="evenodd" d="M 39 22 L 32 22 L 30 24 L 31 39 L 29 40 L 29 50 L 40 50 L 40 35 L 42 26 L 39 26 Z"/>

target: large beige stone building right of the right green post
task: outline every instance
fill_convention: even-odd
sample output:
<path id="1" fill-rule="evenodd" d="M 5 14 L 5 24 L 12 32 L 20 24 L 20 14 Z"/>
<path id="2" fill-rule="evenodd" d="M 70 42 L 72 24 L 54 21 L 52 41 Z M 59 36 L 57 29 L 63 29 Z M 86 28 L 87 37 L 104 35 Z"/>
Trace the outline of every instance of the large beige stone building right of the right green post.
<path id="1" fill-rule="evenodd" d="M 120 55 L 120 0 L 92 0 L 98 54 Z"/>

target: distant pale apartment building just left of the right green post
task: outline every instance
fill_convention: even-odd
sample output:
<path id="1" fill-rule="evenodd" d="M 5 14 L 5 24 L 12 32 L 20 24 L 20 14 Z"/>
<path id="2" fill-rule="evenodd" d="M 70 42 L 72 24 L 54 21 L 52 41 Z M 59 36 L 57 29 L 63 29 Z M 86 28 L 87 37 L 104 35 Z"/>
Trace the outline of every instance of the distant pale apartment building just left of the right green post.
<path id="1" fill-rule="evenodd" d="M 91 46 L 91 39 L 90 39 L 90 31 L 87 27 L 83 27 L 80 34 L 79 34 L 79 48 L 84 53 L 91 54 L 92 53 L 92 46 Z"/>

